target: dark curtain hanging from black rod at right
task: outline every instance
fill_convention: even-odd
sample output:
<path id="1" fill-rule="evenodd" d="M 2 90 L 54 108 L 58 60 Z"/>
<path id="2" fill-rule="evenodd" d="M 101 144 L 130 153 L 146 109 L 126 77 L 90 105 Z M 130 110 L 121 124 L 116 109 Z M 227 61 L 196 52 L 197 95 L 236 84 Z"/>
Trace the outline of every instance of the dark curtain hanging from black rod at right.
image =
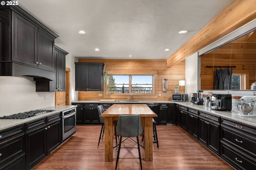
<path id="1" fill-rule="evenodd" d="M 216 68 L 215 70 L 215 89 L 216 90 L 230 90 L 231 89 L 231 78 L 232 78 L 232 68 L 226 68 L 222 70 L 221 68 Z"/>

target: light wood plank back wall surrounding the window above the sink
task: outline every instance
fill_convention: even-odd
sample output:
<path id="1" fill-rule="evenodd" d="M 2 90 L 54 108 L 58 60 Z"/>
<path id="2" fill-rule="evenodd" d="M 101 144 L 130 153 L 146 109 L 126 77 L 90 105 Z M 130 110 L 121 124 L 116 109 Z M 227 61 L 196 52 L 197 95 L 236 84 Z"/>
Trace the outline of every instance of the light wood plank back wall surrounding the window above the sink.
<path id="1" fill-rule="evenodd" d="M 174 94 L 174 86 L 178 85 L 179 80 L 185 80 L 185 60 L 168 68 L 166 59 L 153 60 L 103 60 L 103 59 L 79 59 L 78 62 L 105 63 L 108 74 L 154 74 L 154 83 L 156 84 L 153 95 L 133 94 L 129 96 L 131 100 L 163 101 L 171 100 L 171 94 Z M 162 92 L 162 79 L 168 79 L 168 91 Z M 180 88 L 179 93 L 185 92 L 185 86 Z M 102 94 L 102 96 L 100 96 Z M 161 94 L 161 96 L 159 96 Z M 116 99 L 126 100 L 127 94 L 108 95 L 104 84 L 103 92 L 78 92 L 78 100 L 101 100 Z"/>

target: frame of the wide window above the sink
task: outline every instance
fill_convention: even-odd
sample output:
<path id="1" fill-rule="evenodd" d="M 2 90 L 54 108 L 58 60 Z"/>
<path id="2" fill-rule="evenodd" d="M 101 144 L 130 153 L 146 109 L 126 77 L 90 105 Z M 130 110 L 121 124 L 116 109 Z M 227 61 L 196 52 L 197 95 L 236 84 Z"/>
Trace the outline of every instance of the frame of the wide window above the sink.
<path id="1" fill-rule="evenodd" d="M 132 93 L 132 95 L 154 95 L 155 94 L 155 74 L 108 74 L 108 76 L 129 76 L 129 84 L 128 88 L 132 89 L 132 76 L 152 76 L 152 93 Z M 127 95 L 128 93 L 109 93 L 109 83 L 108 83 L 109 78 L 107 77 L 107 82 L 106 82 L 106 93 L 108 95 Z M 119 84 L 120 85 L 120 84 Z M 146 84 L 145 84 L 146 85 Z"/>

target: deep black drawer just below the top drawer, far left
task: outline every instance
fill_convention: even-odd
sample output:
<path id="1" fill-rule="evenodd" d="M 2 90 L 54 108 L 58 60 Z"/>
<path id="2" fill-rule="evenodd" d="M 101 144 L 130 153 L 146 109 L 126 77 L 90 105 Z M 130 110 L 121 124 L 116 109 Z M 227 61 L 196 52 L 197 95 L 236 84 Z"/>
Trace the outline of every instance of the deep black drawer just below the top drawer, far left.
<path id="1" fill-rule="evenodd" d="M 13 158 L 25 152 L 25 135 L 20 134 L 17 137 L 0 143 L 0 164 L 6 164 Z"/>

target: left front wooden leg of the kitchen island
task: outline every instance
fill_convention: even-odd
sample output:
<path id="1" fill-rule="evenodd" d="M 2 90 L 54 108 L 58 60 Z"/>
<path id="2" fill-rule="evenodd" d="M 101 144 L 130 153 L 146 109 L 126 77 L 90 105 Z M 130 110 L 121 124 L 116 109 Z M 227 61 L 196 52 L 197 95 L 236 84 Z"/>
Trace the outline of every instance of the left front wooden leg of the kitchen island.
<path id="1" fill-rule="evenodd" d="M 113 161 L 113 117 L 105 117 L 105 161 Z"/>

